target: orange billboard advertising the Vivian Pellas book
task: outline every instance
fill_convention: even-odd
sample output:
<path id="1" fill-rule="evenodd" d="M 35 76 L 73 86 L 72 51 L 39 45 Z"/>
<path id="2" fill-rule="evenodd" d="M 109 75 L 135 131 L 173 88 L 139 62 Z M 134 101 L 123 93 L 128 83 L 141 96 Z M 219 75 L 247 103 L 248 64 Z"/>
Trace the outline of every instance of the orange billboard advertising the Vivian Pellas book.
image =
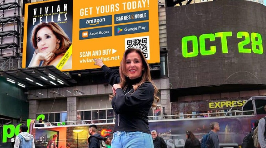
<path id="1" fill-rule="evenodd" d="M 149 63 L 160 62 L 157 1 L 29 3 L 24 26 L 23 68 L 98 68 L 93 58 L 114 67 L 128 48 L 140 49 Z"/>

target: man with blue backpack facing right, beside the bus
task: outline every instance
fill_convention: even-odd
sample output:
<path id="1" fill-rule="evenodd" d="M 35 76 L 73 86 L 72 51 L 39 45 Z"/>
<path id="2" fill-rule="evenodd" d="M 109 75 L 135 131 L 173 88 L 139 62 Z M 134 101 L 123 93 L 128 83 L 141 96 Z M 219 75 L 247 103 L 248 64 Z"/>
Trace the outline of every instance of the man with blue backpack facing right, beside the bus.
<path id="1" fill-rule="evenodd" d="M 219 148 L 219 139 L 216 132 L 220 130 L 218 122 L 210 123 L 211 131 L 203 136 L 201 139 L 201 148 Z"/>

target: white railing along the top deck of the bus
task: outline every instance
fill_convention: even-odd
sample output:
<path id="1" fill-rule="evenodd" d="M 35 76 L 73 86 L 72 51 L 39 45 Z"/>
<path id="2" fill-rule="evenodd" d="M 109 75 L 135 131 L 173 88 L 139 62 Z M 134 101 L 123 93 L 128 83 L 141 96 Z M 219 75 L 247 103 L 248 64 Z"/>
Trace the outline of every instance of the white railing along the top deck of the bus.
<path id="1" fill-rule="evenodd" d="M 176 119 L 176 120 L 191 120 L 191 119 L 200 119 L 200 118 L 223 118 L 223 117 L 245 117 L 245 116 L 254 116 L 253 110 L 248 111 L 230 111 L 227 112 L 215 112 L 215 113 L 196 113 L 196 114 L 181 114 L 181 115 L 162 115 L 162 116 L 149 116 L 149 121 L 157 121 L 157 120 L 166 120 L 166 119 Z M 245 115 L 243 115 L 245 113 Z M 96 120 L 82 120 L 82 121 L 64 121 L 64 122 L 45 122 L 45 123 L 35 123 L 34 128 L 44 128 L 50 126 L 75 126 L 75 125 L 88 125 L 88 124 L 96 124 L 96 125 L 106 125 L 106 124 L 114 124 L 115 118 L 111 119 L 96 119 Z M 43 124 L 44 127 L 37 127 L 38 125 Z"/>

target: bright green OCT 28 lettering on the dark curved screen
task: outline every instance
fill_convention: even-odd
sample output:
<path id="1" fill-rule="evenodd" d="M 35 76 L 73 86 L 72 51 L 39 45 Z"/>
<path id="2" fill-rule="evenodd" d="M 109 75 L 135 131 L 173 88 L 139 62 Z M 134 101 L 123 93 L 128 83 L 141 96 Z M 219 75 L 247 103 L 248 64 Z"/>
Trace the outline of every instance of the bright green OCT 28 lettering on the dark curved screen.
<path id="1" fill-rule="evenodd" d="M 195 35 L 185 36 L 182 38 L 182 55 L 185 58 L 195 57 L 197 55 L 214 55 L 216 53 L 216 46 L 206 47 L 205 40 L 215 41 L 216 38 L 221 38 L 221 51 L 228 53 L 227 39 L 232 38 L 232 31 L 217 32 L 203 34 L 199 37 Z M 243 39 L 238 43 L 239 53 L 255 53 L 263 54 L 262 37 L 259 33 L 239 31 L 237 38 Z M 192 44 L 192 52 L 189 52 L 188 45 Z M 251 48 L 245 48 L 246 45 L 251 44 Z"/>

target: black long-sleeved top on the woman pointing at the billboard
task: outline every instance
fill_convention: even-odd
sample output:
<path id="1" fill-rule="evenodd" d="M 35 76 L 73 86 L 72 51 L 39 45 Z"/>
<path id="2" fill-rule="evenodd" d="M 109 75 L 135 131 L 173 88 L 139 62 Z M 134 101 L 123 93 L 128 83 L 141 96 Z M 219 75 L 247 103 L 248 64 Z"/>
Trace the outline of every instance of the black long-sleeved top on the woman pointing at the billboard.
<path id="1" fill-rule="evenodd" d="M 105 65 L 102 66 L 102 70 L 110 85 L 120 82 L 118 72 Z M 114 131 L 140 131 L 150 134 L 148 113 L 153 103 L 154 88 L 152 83 L 145 82 L 134 92 L 132 85 L 139 83 L 141 78 L 127 79 L 125 90 L 116 89 L 116 96 L 112 99 L 115 113 Z"/>

